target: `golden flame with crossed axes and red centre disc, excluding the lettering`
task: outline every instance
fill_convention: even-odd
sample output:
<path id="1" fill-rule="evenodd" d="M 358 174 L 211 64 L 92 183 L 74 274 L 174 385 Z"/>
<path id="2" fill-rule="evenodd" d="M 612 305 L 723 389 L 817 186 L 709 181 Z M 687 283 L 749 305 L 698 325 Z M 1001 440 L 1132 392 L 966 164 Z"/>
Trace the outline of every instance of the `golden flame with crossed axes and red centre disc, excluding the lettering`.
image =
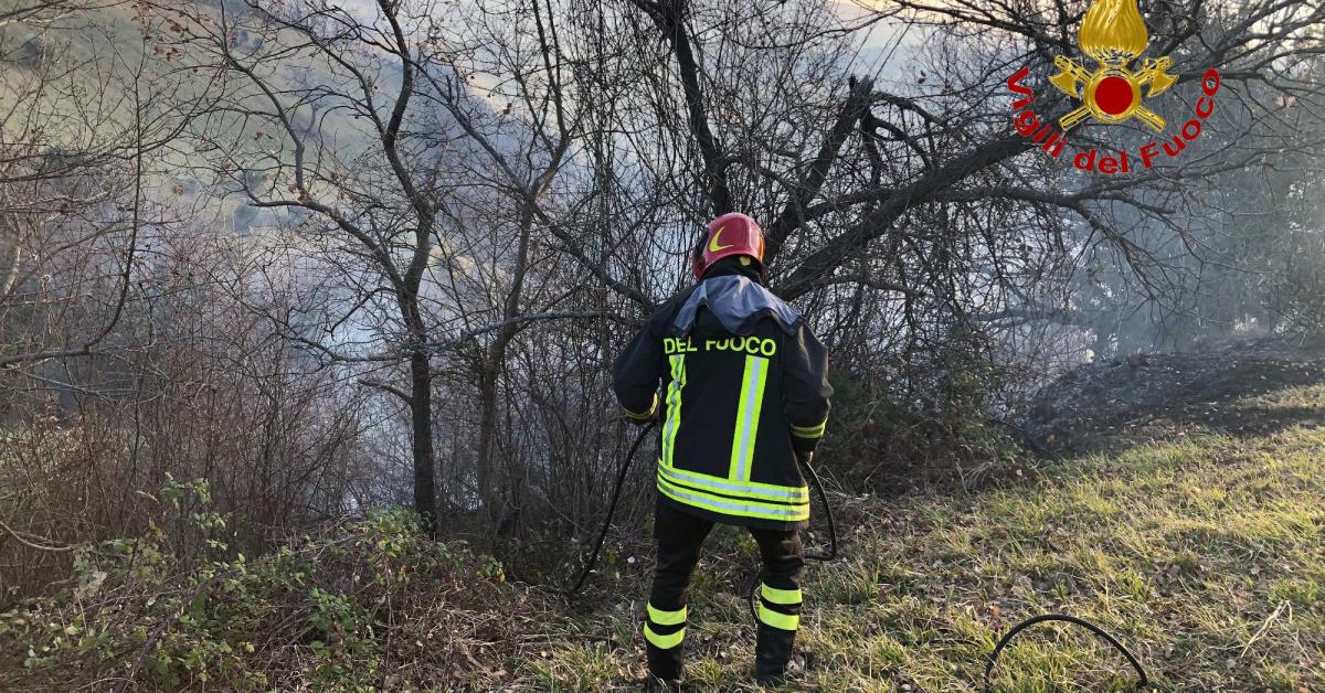
<path id="1" fill-rule="evenodd" d="M 1073 58 L 1053 58 L 1053 65 L 1060 72 L 1049 82 L 1064 94 L 1083 101 L 1081 106 L 1059 118 L 1063 130 L 1093 115 L 1105 123 L 1136 118 L 1155 133 L 1163 131 L 1165 119 L 1141 103 L 1141 87 L 1149 85 L 1149 98 L 1173 86 L 1178 81 L 1178 77 L 1167 72 L 1173 66 L 1173 58 L 1146 58 L 1137 72 L 1128 69 L 1128 64 L 1145 52 L 1149 41 L 1150 34 L 1141 20 L 1137 0 L 1090 3 L 1077 30 L 1077 44 L 1083 53 L 1094 58 L 1098 68 L 1089 72 Z"/>

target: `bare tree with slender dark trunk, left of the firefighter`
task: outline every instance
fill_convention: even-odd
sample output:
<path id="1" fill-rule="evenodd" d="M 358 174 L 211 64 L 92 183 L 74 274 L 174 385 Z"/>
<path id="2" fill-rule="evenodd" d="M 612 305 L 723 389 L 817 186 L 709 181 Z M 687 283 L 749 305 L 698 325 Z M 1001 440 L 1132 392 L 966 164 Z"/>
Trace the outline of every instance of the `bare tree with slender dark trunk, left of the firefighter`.
<path id="1" fill-rule="evenodd" d="M 347 272 L 358 294 L 327 306 L 338 314 L 326 318 L 322 335 L 309 338 L 285 317 L 272 318 L 330 362 L 405 364 L 408 386 L 382 388 L 408 407 L 413 502 L 435 531 L 433 371 L 421 293 L 444 182 L 429 163 L 436 152 L 409 130 L 419 48 L 403 21 L 413 9 L 383 1 L 375 11 L 360 20 L 323 3 L 270 11 L 253 3 L 240 12 L 223 5 L 216 16 L 199 8 L 188 13 L 182 42 L 200 65 L 227 76 L 227 103 L 199 131 L 213 170 L 249 207 L 307 213 L 303 232 L 338 261 L 360 262 Z M 292 64 L 298 68 L 273 69 Z M 341 150 L 333 127 L 362 135 L 367 148 Z M 338 327 L 364 325 L 360 314 L 368 329 L 386 321 L 374 339 L 383 348 L 355 352 L 337 343 Z"/>

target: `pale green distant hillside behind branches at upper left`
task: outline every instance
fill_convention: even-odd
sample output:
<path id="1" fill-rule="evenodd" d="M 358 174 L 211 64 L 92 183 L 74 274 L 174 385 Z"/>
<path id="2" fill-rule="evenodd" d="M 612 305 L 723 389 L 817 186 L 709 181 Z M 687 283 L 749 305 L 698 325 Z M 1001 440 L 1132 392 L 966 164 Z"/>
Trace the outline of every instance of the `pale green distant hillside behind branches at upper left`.
<path id="1" fill-rule="evenodd" d="M 235 80 L 225 82 L 224 89 L 219 86 L 220 82 L 213 81 L 217 58 L 182 42 L 187 36 L 184 24 L 195 36 L 216 30 L 220 21 L 216 7 L 208 3 L 186 3 L 182 7 L 196 11 L 204 24 L 186 20 L 175 12 L 158 11 L 148 15 L 144 29 L 134 5 L 126 3 L 72 15 L 50 27 L 42 25 L 40 30 L 24 24 L 0 25 L 0 52 L 9 58 L 0 61 L 0 114 L 38 113 L 41 117 L 37 126 L 44 144 L 97 152 L 123 146 L 123 138 L 132 133 L 135 81 L 144 102 L 144 119 L 162 131 L 179 126 L 183 118 L 180 113 L 195 107 L 195 102 L 204 98 L 208 90 L 211 93 L 207 98 L 217 98 L 221 90 L 231 95 L 256 93 L 250 85 Z M 237 7 L 231 7 L 228 12 L 232 23 L 240 21 Z M 244 29 L 236 29 L 235 36 L 236 50 L 256 52 L 261 45 L 258 37 Z M 368 58 L 360 60 L 371 62 Z M 394 62 L 384 61 L 383 65 L 379 98 L 390 103 L 399 89 L 399 78 Z M 139 70 L 142 76 L 136 74 Z M 48 83 L 40 90 L 40 98 L 33 101 L 38 76 Z M 270 65 L 264 77 L 278 90 L 295 90 L 306 83 L 343 83 L 342 77 L 333 74 L 325 62 L 317 61 Z M 292 91 L 284 93 L 284 98 L 294 101 L 298 97 Z M 249 106 L 268 107 L 261 101 Z M 333 106 L 343 106 L 343 101 L 329 99 L 327 103 L 319 103 L 323 113 L 318 117 L 315 129 L 309 125 L 311 109 L 295 111 L 294 125 L 305 129 L 310 152 L 343 162 L 354 162 L 371 152 L 367 123 Z M 23 125 L 24 119 L 15 121 Z M 264 130 L 254 122 L 211 113 L 207 118 L 189 123 L 184 133 L 200 138 L 205 133 L 207 139 L 229 143 L 227 151 L 233 155 L 238 170 L 257 162 L 266 166 L 266 156 L 293 151 L 290 139 L 270 127 L 265 130 L 266 136 L 256 139 L 254 135 Z M 8 127 L 16 126 L 9 123 Z M 16 136 L 15 133 L 7 134 Z M 147 138 L 151 139 L 152 135 L 150 130 Z M 232 225 L 231 231 L 236 232 L 284 219 L 284 213 L 245 208 L 245 200 L 232 193 L 231 184 L 213 184 L 212 171 L 201 166 L 203 155 L 189 150 L 189 146 L 200 142 L 201 139 L 180 140 L 178 146 L 155 150 L 147 158 L 144 192 L 150 200 L 180 208 L 209 205 L 224 213 Z M 311 159 L 314 156 L 310 155 Z"/>

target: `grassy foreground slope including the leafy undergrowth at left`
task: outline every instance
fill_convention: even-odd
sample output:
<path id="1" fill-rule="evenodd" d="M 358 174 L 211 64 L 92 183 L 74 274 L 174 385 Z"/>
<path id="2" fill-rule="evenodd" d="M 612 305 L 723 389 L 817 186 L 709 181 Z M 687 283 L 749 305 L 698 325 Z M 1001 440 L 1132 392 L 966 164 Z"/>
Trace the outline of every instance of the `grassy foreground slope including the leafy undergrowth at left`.
<path id="1" fill-rule="evenodd" d="M 1223 382 L 1232 366 L 1202 366 L 1203 376 Z M 1316 425 L 1325 386 L 1302 380 L 1230 386 L 1218 401 L 1192 403 L 1272 425 L 1239 431 L 1191 415 L 1166 439 L 1094 435 L 1092 447 L 1108 452 L 1043 462 L 1020 484 L 974 496 L 835 496 L 843 557 L 807 568 L 786 690 L 978 690 L 998 636 L 1049 611 L 1113 632 L 1161 690 L 1325 689 L 1325 431 Z M 1169 425 L 1167 416 L 1155 419 Z M 76 583 L 82 596 L 0 620 L 0 684 L 99 688 L 131 670 L 143 689 L 637 686 L 647 555 L 613 554 L 590 594 L 566 603 L 502 582 L 497 564 L 464 547 L 415 539 L 403 518 L 229 562 L 209 582 L 119 570 L 89 591 L 89 571 Z M 754 546 L 735 530 L 708 546 L 692 591 L 690 690 L 745 690 Z M 1133 681 L 1102 643 L 1045 624 L 1000 659 L 995 689 Z"/>

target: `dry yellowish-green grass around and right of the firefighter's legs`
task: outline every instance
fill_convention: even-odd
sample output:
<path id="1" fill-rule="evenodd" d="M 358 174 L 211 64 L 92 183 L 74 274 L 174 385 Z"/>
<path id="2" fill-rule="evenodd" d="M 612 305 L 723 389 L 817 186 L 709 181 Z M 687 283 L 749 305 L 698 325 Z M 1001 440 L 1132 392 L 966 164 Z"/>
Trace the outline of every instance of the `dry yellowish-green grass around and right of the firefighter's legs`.
<path id="1" fill-rule="evenodd" d="M 1322 395 L 1306 387 L 1257 404 L 1318 409 Z M 995 639 L 1056 611 L 1129 644 L 1159 689 L 1325 690 L 1325 431 L 1173 436 L 1061 462 L 1024 488 L 839 500 L 855 533 L 843 559 L 807 571 L 807 668 L 786 689 L 978 690 Z M 749 678 L 741 567 L 753 554 L 738 538 L 710 539 L 717 555 L 696 578 L 696 690 L 741 690 Z M 629 587 L 639 595 L 645 584 Z M 519 663 L 517 688 L 629 688 L 643 674 L 640 604 L 623 607 L 563 621 L 551 649 Z M 1128 690 L 1133 681 L 1108 645 L 1045 624 L 1000 657 L 995 689 Z"/>

